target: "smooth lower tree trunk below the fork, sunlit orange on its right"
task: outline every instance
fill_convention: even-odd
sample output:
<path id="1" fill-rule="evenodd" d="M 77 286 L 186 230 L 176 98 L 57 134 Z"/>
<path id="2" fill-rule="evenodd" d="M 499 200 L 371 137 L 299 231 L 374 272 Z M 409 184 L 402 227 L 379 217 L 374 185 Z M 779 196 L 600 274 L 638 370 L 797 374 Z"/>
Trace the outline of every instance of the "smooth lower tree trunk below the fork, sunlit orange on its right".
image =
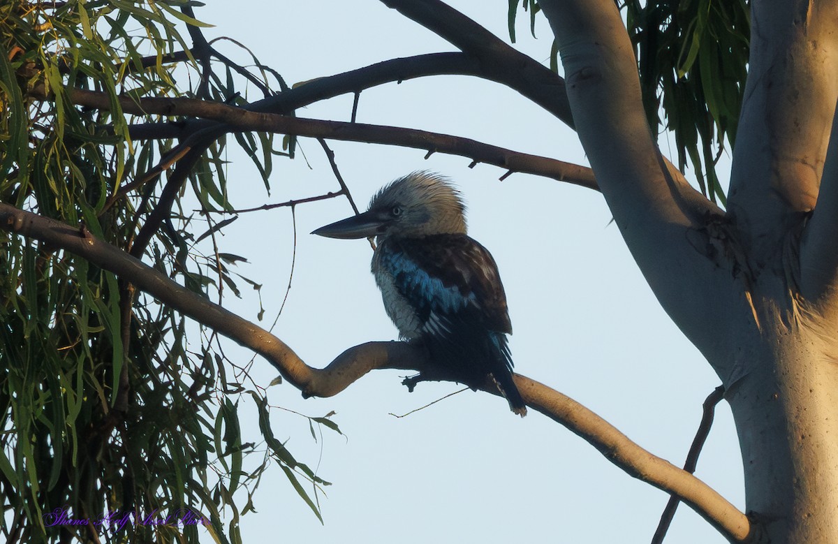
<path id="1" fill-rule="evenodd" d="M 747 514 L 760 527 L 758 541 L 835 542 L 835 332 L 825 329 L 821 315 L 794 303 L 762 318 L 767 322 L 759 334 L 733 329 L 742 343 L 732 354 L 737 371 L 726 383 L 742 448 Z"/>

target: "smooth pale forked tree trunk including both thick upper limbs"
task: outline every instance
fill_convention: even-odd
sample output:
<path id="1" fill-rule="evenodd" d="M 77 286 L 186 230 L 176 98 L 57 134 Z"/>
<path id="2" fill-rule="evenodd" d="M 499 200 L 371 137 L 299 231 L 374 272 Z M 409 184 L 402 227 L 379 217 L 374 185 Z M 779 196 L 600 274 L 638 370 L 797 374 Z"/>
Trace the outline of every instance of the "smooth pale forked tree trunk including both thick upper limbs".
<path id="1" fill-rule="evenodd" d="M 838 143 L 829 145 L 838 7 L 753 1 L 722 211 L 667 173 L 614 3 L 540 5 L 614 220 L 662 306 L 726 387 L 742 449 L 747 540 L 838 542 Z"/>

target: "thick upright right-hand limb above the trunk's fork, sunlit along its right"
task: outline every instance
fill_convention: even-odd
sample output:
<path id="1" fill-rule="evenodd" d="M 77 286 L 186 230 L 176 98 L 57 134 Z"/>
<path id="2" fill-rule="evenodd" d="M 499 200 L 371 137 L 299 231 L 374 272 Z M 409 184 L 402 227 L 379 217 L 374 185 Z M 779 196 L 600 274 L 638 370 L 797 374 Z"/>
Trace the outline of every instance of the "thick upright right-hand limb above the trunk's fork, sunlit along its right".
<path id="1" fill-rule="evenodd" d="M 815 208 L 838 99 L 838 4 L 751 4 L 751 47 L 727 210 L 753 258 Z"/>

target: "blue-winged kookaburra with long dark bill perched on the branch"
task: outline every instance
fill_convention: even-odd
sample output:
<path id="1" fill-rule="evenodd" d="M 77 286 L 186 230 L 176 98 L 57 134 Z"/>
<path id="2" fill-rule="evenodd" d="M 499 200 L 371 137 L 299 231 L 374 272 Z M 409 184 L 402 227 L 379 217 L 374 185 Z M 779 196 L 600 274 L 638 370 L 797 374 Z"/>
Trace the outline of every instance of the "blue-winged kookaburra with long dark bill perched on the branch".
<path id="1" fill-rule="evenodd" d="M 401 338 L 421 342 L 467 385 L 491 377 L 512 411 L 524 416 L 512 380 L 504 286 L 489 251 L 466 234 L 464 212 L 447 179 L 415 172 L 380 189 L 365 213 L 312 234 L 375 236 L 372 273 Z"/>

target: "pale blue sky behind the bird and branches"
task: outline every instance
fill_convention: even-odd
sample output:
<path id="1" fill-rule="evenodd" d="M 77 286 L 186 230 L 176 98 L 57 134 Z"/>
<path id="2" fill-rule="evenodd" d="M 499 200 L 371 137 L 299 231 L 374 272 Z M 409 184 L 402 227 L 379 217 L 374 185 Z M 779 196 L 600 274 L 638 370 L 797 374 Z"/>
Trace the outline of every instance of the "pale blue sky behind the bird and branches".
<path id="1" fill-rule="evenodd" d="M 453 5 L 502 39 L 506 3 Z M 376 61 L 453 48 L 375 0 L 250 2 L 210 0 L 197 10 L 250 47 L 289 85 Z M 521 14 L 516 47 L 545 61 L 551 36 L 544 21 L 533 40 Z M 219 47 L 239 60 L 229 44 Z M 254 90 L 252 100 L 258 99 Z M 351 96 L 297 111 L 300 117 L 349 120 Z M 586 163 L 574 133 L 513 91 L 483 80 L 436 77 L 385 85 L 360 97 L 360 122 L 447 132 L 526 153 Z M 499 264 L 515 329 L 516 370 L 576 398 L 652 453 L 682 464 L 701 417 L 701 402 L 719 380 L 656 302 L 629 256 L 601 195 L 478 165 L 468 158 L 418 150 L 332 142 L 344 179 L 363 208 L 380 185 L 416 169 L 453 179 L 468 202 L 470 234 Z M 251 162 L 230 147 L 228 179 L 236 207 L 282 202 L 336 190 L 316 141 L 303 139 L 294 161 L 277 160 L 267 195 Z M 664 149 L 666 152 L 666 149 Z M 309 168 L 308 164 L 311 168 Z M 335 241 L 308 232 L 351 214 L 343 199 L 297 209 L 297 266 L 275 333 L 310 365 L 344 349 L 395 339 L 369 272 L 365 241 Z M 282 303 L 292 256 L 287 209 L 243 215 L 220 240 L 221 251 L 247 256 L 240 272 L 264 284 L 270 324 Z M 226 298 L 225 306 L 256 319 L 258 303 Z M 246 361 L 237 346 L 228 355 Z M 277 438 L 334 485 L 320 497 L 320 525 L 280 470 L 243 518 L 245 541 L 262 542 L 646 542 L 667 495 L 630 478 L 581 438 L 530 412 L 521 420 L 494 396 L 422 384 L 410 394 L 397 371 L 377 371 L 330 399 L 303 400 L 291 386 L 269 390 L 272 405 L 312 416 L 337 412 L 346 438 L 314 443 L 308 422 L 275 410 Z M 263 385 L 276 375 L 257 359 Z M 253 418 L 251 438 L 256 438 Z M 247 431 L 246 431 L 247 433 Z M 321 448 L 322 447 L 322 448 Z M 702 453 L 697 474 L 740 508 L 742 467 L 727 405 Z M 667 540 L 724 542 L 685 507 Z"/>

